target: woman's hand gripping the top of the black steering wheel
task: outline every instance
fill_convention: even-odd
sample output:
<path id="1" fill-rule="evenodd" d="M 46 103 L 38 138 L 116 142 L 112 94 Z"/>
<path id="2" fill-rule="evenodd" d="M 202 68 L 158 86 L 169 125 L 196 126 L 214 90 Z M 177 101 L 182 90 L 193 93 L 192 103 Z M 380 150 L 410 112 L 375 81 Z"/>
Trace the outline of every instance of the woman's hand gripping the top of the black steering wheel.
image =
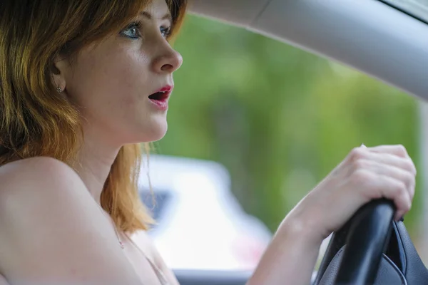
<path id="1" fill-rule="evenodd" d="M 412 206 L 415 176 L 414 163 L 402 145 L 362 145 L 302 199 L 284 222 L 297 223 L 319 242 L 340 229 L 362 205 L 382 197 L 394 201 L 395 219 L 400 219 Z"/>

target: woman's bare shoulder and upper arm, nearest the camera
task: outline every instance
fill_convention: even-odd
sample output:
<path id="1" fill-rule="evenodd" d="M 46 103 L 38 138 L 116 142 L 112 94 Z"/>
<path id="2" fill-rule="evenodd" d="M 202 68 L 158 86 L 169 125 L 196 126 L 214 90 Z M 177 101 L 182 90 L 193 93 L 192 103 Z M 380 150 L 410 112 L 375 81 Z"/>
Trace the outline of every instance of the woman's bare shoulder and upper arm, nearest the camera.
<path id="1" fill-rule="evenodd" d="M 80 177 L 48 157 L 0 168 L 0 272 L 9 284 L 141 285 Z"/>

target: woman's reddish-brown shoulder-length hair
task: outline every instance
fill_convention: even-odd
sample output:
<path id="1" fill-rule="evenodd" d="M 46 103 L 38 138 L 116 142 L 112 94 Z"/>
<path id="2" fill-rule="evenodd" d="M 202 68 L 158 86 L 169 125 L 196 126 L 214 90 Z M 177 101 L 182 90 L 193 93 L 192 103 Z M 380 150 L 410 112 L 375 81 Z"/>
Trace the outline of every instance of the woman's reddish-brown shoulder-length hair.
<path id="1" fill-rule="evenodd" d="M 70 166 L 77 162 L 82 118 L 56 92 L 54 58 L 66 56 L 73 62 L 82 48 L 121 31 L 150 2 L 0 1 L 0 166 L 37 156 Z M 173 37 L 183 22 L 186 0 L 167 4 Z M 141 155 L 139 144 L 121 147 L 101 193 L 101 206 L 125 232 L 147 229 L 153 222 L 138 196 Z"/>

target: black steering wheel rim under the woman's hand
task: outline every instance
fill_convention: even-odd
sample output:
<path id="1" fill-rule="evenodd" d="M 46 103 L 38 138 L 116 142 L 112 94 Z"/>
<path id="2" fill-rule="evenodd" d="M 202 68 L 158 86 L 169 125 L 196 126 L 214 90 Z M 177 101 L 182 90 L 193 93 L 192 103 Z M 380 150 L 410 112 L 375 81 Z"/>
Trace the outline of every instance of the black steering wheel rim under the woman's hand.
<path id="1" fill-rule="evenodd" d="M 373 284 L 382 254 L 389 243 L 394 212 L 392 201 L 374 200 L 359 209 L 347 224 L 333 233 L 315 285 L 320 283 L 330 262 L 342 248 L 342 261 L 331 284 Z"/>

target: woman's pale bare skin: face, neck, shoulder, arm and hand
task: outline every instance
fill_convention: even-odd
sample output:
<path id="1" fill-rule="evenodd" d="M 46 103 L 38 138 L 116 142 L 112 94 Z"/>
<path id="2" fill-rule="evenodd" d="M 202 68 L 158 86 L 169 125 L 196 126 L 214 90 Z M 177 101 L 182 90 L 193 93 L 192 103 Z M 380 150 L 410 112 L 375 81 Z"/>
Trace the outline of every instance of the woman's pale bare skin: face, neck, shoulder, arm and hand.
<path id="1" fill-rule="evenodd" d="M 141 28 L 86 48 L 73 68 L 56 61 L 56 85 L 86 118 L 80 166 L 74 172 L 34 157 L 0 167 L 0 285 L 159 284 L 126 239 L 121 249 L 97 203 L 120 147 L 165 135 L 166 111 L 148 95 L 172 86 L 183 61 L 165 39 L 165 15 L 165 2 L 155 0 L 139 16 Z M 309 284 L 322 239 L 371 199 L 393 199 L 396 219 L 402 217 L 412 204 L 415 175 L 402 146 L 355 148 L 287 214 L 248 285 Z M 150 239 L 140 237 L 138 246 L 178 284 Z"/>

